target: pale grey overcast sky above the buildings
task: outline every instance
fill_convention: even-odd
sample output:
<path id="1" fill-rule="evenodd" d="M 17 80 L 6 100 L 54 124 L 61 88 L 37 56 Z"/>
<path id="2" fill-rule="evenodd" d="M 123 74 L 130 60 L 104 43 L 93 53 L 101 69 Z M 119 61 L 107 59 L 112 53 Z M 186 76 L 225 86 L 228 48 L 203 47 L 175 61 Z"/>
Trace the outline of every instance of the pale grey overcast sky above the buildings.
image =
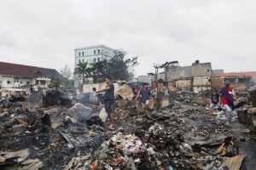
<path id="1" fill-rule="evenodd" d="M 154 63 L 195 59 L 256 71 L 255 0 L 0 0 L 0 60 L 73 70 L 74 48 L 104 44 Z"/>

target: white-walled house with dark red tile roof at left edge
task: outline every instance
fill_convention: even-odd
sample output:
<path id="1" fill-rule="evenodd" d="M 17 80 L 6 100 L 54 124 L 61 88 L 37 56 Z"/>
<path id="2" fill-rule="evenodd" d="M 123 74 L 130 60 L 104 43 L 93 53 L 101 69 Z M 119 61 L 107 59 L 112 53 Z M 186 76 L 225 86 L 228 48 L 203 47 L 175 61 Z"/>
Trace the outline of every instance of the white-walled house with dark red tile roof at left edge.
<path id="1" fill-rule="evenodd" d="M 0 62 L 0 88 L 38 85 L 47 88 L 51 80 L 63 78 L 55 69 Z"/>

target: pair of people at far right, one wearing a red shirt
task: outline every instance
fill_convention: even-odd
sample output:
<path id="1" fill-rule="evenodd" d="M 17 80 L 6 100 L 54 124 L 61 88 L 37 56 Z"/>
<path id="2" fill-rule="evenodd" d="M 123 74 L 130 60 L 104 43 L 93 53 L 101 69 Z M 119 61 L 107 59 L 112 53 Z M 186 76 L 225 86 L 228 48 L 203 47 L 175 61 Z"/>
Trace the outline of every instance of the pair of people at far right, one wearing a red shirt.
<path id="1" fill-rule="evenodd" d="M 224 111 L 227 118 L 226 124 L 230 126 L 232 121 L 232 113 L 235 110 L 236 94 L 231 87 L 230 81 L 224 82 L 224 87 L 219 90 L 212 89 L 210 110 L 213 114 L 214 111 Z"/>

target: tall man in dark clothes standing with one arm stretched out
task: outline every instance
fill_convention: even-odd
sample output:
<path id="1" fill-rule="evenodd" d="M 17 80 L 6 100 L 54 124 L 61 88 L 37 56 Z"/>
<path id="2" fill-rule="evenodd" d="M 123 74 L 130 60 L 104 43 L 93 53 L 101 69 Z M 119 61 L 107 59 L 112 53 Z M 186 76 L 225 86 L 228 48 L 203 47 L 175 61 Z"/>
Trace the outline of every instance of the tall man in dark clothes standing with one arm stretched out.
<path id="1" fill-rule="evenodd" d="M 97 93 L 105 92 L 102 99 L 105 104 L 105 110 L 108 113 L 108 119 L 110 121 L 110 125 L 108 129 L 113 129 L 114 119 L 113 119 L 113 102 L 114 102 L 114 86 L 111 82 L 111 77 L 106 77 L 105 82 L 107 83 L 106 88 L 97 91 Z"/>

